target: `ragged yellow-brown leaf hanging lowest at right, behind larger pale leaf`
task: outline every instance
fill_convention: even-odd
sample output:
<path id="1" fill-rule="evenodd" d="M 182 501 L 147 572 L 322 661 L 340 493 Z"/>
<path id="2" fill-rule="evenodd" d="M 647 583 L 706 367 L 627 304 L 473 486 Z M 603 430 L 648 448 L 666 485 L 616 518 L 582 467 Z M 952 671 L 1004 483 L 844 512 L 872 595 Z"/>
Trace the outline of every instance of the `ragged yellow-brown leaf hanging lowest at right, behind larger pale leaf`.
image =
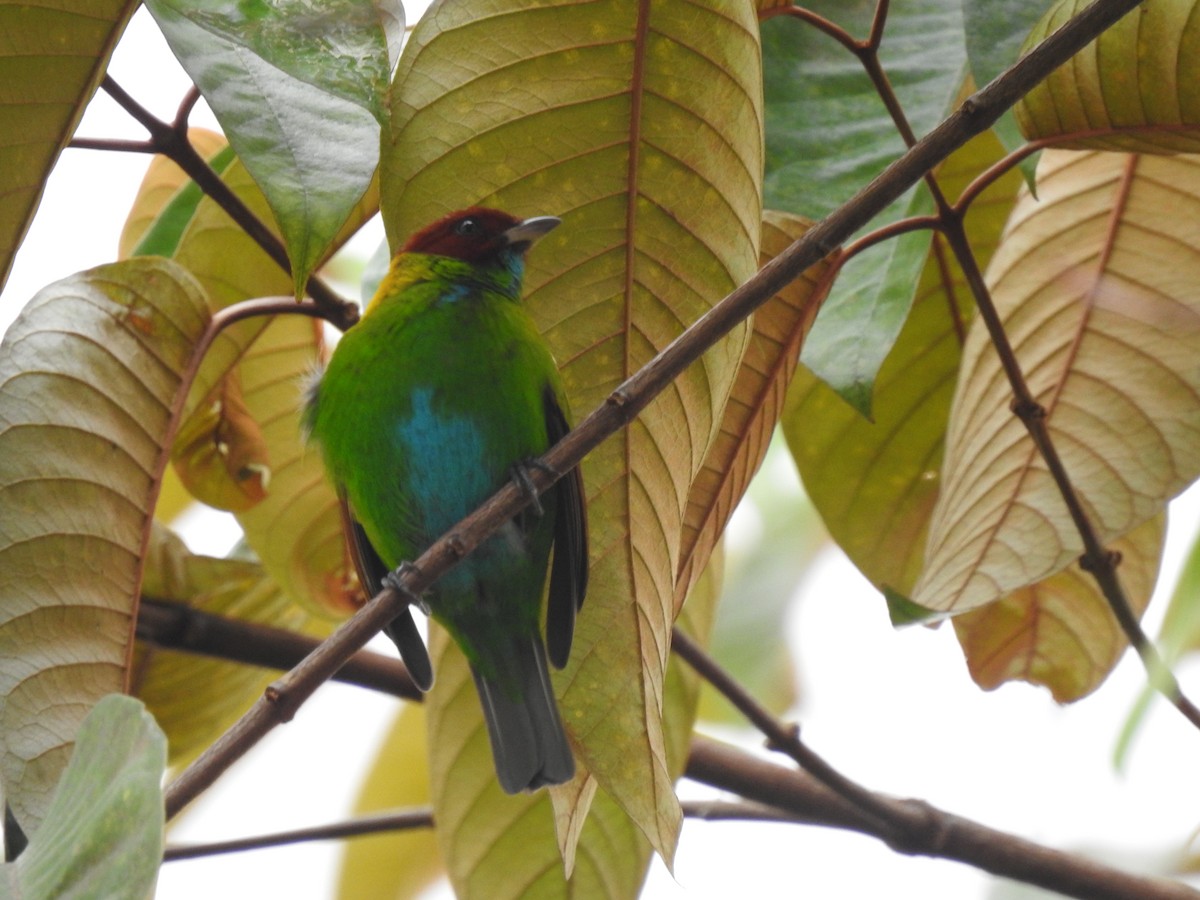
<path id="1" fill-rule="evenodd" d="M 1112 544 L 1121 554 L 1121 583 L 1139 617 L 1158 577 L 1165 524 L 1164 516 L 1156 516 Z M 954 634 L 980 688 L 1030 682 L 1049 688 L 1060 703 L 1096 690 L 1129 647 L 1096 578 L 1078 562 L 955 617 Z"/>

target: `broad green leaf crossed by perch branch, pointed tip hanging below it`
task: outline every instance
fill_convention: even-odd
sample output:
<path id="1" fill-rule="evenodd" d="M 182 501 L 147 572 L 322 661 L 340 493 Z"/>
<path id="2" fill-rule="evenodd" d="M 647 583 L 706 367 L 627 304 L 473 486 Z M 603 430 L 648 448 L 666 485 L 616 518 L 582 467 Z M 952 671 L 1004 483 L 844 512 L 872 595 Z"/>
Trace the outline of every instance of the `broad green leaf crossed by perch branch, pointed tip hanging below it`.
<path id="1" fill-rule="evenodd" d="M 805 4 L 865 35 L 875 4 Z M 881 61 L 917 134 L 937 125 L 962 88 L 966 54 L 956 2 L 894 6 Z M 848 200 L 904 150 L 878 91 L 858 60 L 799 19 L 763 23 L 768 206 L 818 218 Z M 924 187 L 872 220 L 878 228 L 932 211 Z M 864 415 L 880 366 L 913 300 L 930 235 L 914 232 L 875 246 L 840 274 L 800 359 Z"/>

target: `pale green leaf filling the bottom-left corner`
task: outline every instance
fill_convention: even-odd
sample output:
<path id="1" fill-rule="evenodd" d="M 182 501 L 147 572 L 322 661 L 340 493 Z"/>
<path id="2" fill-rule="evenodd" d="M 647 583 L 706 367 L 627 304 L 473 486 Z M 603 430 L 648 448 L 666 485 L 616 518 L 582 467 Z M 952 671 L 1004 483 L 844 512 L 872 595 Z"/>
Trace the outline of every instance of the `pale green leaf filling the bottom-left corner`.
<path id="1" fill-rule="evenodd" d="M 97 702 L 79 727 L 46 821 L 20 858 L 0 866 L 0 895 L 152 896 L 162 862 L 166 757 L 167 740 L 140 703 L 121 695 Z"/>

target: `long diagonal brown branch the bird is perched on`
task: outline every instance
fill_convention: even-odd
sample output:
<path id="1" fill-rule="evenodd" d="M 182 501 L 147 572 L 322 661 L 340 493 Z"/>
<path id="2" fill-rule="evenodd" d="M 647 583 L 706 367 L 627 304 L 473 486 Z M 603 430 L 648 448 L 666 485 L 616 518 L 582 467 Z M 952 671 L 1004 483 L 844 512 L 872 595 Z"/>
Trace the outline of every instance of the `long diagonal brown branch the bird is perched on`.
<path id="1" fill-rule="evenodd" d="M 545 466 L 530 469 L 534 486 L 545 491 L 558 478 L 551 473 L 565 473 L 575 468 L 588 451 L 628 425 L 653 397 L 732 328 L 810 265 L 834 251 L 934 166 L 990 127 L 1018 98 L 1134 8 L 1138 1 L 1096 0 L 1013 67 L 968 97 L 958 110 L 888 166 L 851 200 L 810 228 L 614 390 L 578 427 L 551 448 L 541 460 Z M 528 497 L 515 485 L 505 486 L 436 541 L 404 572 L 398 584 L 410 595 L 419 595 L 434 577 L 456 564 L 527 504 Z M 194 799 L 276 725 L 288 721 L 296 707 L 408 601 L 409 598 L 395 588 L 380 592 L 302 664 L 272 685 L 266 696 L 167 788 L 168 816 Z"/>

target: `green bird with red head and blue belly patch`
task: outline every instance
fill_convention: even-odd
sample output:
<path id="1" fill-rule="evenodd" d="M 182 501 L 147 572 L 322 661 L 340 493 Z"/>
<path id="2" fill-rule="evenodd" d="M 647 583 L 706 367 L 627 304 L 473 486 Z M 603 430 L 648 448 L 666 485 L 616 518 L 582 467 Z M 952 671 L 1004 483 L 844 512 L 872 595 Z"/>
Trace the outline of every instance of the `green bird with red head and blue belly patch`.
<path id="1" fill-rule="evenodd" d="M 522 302 L 526 253 L 559 223 L 472 206 L 416 232 L 304 409 L 372 595 L 508 481 L 533 494 L 421 596 L 467 658 L 510 794 L 575 773 L 547 660 L 566 665 L 587 593 L 586 494 L 577 467 L 540 497 L 533 491 L 530 467 L 570 420 L 558 366 Z M 428 690 L 432 666 L 410 610 L 385 632 Z"/>

